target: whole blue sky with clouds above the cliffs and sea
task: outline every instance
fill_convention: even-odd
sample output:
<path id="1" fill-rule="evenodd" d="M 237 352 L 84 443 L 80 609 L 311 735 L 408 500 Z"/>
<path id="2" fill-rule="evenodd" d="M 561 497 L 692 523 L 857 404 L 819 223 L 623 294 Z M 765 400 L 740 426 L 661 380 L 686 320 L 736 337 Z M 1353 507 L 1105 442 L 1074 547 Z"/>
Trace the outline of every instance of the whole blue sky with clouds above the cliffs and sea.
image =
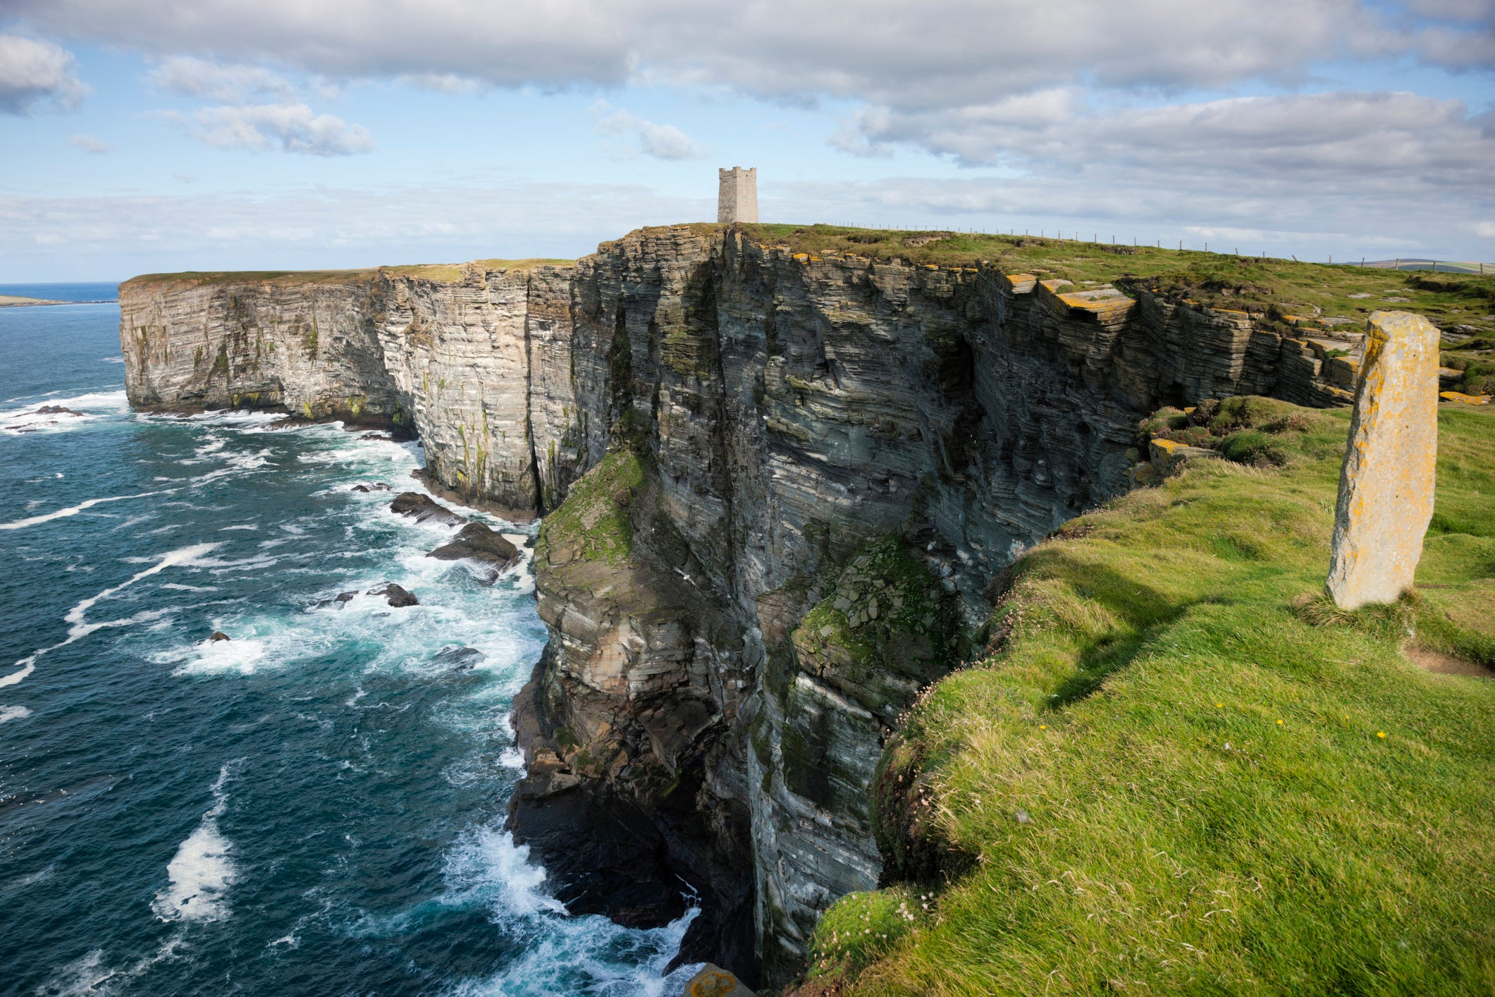
<path id="1" fill-rule="evenodd" d="M 0 0 L 0 283 L 712 221 L 1495 262 L 1495 0 Z"/>

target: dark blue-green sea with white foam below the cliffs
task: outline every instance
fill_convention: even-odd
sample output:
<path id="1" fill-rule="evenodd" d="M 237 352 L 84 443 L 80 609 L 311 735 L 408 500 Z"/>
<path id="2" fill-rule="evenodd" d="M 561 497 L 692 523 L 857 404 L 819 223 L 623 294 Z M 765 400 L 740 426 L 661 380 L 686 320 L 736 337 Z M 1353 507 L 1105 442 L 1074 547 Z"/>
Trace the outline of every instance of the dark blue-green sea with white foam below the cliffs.
<path id="1" fill-rule="evenodd" d="M 0 994 L 679 994 L 695 912 L 571 916 L 504 831 L 534 575 L 356 490 L 419 442 L 133 413 L 115 285 L 0 294 L 76 302 L 0 308 Z"/>

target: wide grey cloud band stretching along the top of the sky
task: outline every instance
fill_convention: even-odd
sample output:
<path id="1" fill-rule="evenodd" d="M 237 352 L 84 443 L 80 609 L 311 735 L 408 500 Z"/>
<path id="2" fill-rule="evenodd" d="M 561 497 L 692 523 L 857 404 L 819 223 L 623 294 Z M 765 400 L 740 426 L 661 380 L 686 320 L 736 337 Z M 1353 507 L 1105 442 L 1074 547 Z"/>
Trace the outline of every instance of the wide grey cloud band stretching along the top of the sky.
<path id="1" fill-rule="evenodd" d="M 1419 3 L 1461 19 L 1488 7 Z M 1076 82 L 1292 82 L 1337 58 L 1419 51 L 1417 25 L 1369 0 L 194 0 L 191 16 L 179 4 L 133 0 L 7 6 L 145 52 L 274 60 L 330 76 L 567 87 L 650 75 L 896 108 L 984 103 Z"/>

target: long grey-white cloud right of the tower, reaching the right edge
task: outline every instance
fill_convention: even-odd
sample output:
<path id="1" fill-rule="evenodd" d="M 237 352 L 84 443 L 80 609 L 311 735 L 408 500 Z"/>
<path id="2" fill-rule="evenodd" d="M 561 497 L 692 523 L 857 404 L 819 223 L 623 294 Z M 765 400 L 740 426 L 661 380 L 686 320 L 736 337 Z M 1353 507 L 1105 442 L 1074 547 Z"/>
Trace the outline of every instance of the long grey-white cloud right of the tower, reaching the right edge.
<path id="1" fill-rule="evenodd" d="M 912 145 L 1091 185 L 1168 178 L 1178 190 L 1212 187 L 1221 200 L 1260 188 L 1283 206 L 1326 187 L 1368 194 L 1386 185 L 1402 209 L 1431 190 L 1489 199 L 1479 191 L 1495 161 L 1495 130 L 1458 100 L 1343 91 L 1100 112 L 1039 94 L 1042 114 L 1021 105 L 863 112 L 834 141 L 872 151 Z"/>

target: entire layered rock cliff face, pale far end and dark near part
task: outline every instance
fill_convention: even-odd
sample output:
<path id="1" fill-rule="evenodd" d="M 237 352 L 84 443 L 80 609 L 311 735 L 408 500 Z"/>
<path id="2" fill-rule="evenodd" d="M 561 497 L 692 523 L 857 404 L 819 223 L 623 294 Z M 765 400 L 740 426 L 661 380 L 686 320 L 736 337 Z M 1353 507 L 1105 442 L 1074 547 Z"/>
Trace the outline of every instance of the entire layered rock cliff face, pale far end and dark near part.
<path id="1" fill-rule="evenodd" d="M 1021 546 L 1129 486 L 1138 420 L 1340 401 L 1244 312 L 704 226 L 573 269 L 147 280 L 121 306 L 138 405 L 411 420 L 438 484 L 555 510 L 513 827 L 573 910 L 658 922 L 683 879 L 682 955 L 770 979 L 876 885 L 898 713 L 984 638 Z"/>

